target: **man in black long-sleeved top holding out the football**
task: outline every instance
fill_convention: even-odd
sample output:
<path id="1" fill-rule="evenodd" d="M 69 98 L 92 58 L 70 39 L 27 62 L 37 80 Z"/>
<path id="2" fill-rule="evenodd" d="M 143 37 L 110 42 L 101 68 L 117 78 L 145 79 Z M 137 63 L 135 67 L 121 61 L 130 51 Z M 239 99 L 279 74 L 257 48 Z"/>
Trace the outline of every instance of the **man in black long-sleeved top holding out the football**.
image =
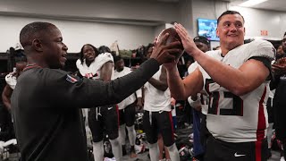
<path id="1" fill-rule="evenodd" d="M 180 53 L 179 42 L 157 43 L 151 59 L 136 71 L 110 82 L 79 79 L 59 70 L 68 47 L 61 31 L 48 22 L 32 22 L 20 33 L 28 65 L 12 96 L 12 114 L 21 160 L 88 160 L 80 107 L 111 105 L 139 89 Z"/>

